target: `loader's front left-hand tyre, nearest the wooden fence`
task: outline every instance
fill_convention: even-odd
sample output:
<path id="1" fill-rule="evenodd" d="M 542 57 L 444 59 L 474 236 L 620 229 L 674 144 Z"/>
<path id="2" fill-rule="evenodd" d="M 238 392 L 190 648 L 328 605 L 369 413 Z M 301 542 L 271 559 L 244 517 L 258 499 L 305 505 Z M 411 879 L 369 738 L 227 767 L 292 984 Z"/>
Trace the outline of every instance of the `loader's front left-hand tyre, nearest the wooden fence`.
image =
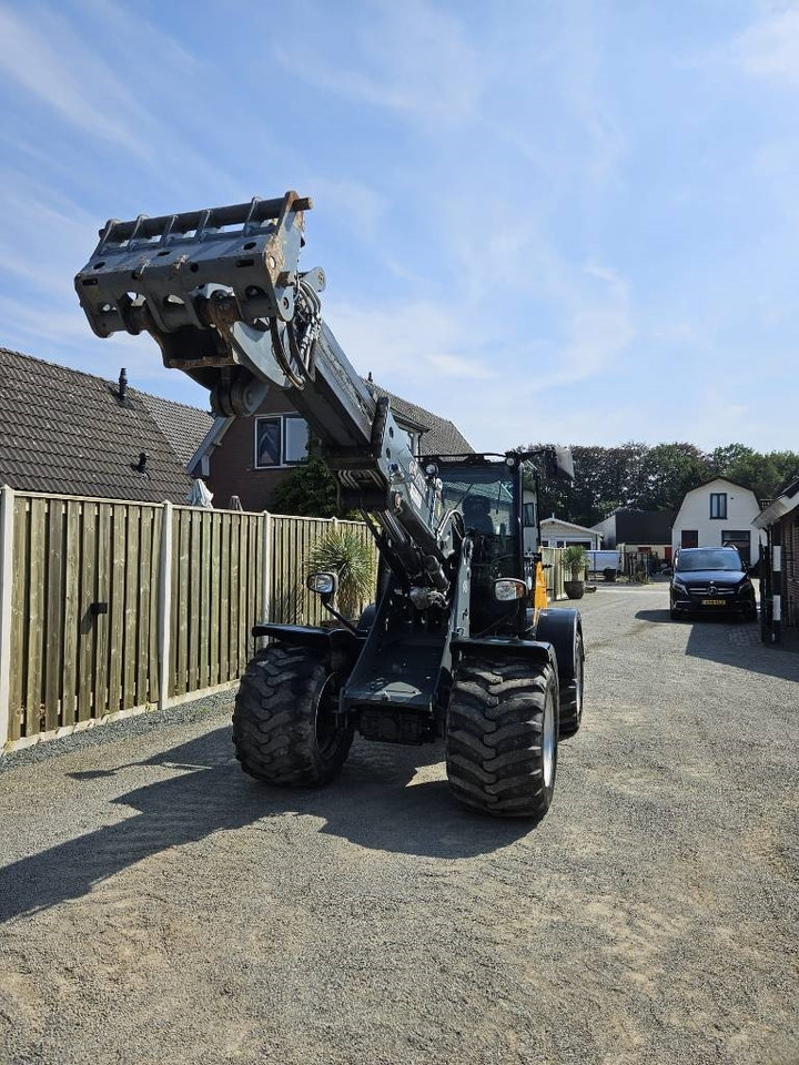
<path id="1" fill-rule="evenodd" d="M 241 679 L 233 744 L 245 773 L 284 787 L 318 787 L 338 772 L 353 740 L 334 714 L 341 680 L 306 648 L 272 645 Z"/>

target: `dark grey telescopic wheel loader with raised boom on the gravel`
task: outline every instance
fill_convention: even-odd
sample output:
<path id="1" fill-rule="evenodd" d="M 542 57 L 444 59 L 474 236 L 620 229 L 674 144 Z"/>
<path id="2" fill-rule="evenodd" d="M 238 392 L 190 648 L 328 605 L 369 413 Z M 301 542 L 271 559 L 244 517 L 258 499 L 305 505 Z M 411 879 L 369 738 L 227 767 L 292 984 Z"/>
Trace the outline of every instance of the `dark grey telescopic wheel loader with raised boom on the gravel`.
<path id="1" fill-rule="evenodd" d="M 454 795 L 499 816 L 540 818 L 558 738 L 583 711 L 576 610 L 546 608 L 525 471 L 570 455 L 414 456 L 391 404 L 375 398 L 321 317 L 321 270 L 299 271 L 295 192 L 164 217 L 110 221 L 75 277 L 98 336 L 150 333 L 166 366 L 209 388 L 216 414 L 253 415 L 281 389 L 307 420 L 380 550 L 376 602 L 357 625 L 334 609 L 335 574 L 309 587 L 336 628 L 255 626 L 270 642 L 241 679 L 233 742 L 271 784 L 317 785 L 342 768 L 355 730 L 370 740 L 444 738 Z M 497 415 L 499 416 L 499 414 Z M 529 499 L 529 494 L 528 494 Z M 537 539 L 535 539 L 537 544 Z M 529 544 L 529 530 L 528 530 Z"/>

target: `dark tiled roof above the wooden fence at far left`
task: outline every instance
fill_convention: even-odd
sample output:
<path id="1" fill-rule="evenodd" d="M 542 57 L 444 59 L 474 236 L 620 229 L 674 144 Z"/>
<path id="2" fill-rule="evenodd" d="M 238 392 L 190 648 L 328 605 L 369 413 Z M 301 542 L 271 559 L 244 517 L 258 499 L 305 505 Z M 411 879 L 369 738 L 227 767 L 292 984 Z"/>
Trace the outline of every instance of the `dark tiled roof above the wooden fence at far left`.
<path id="1" fill-rule="evenodd" d="M 171 419 L 174 444 L 162 428 Z M 0 485 L 19 491 L 185 503 L 182 456 L 212 422 L 130 388 L 120 402 L 117 382 L 0 347 Z M 146 476 L 133 468 L 142 452 Z"/>

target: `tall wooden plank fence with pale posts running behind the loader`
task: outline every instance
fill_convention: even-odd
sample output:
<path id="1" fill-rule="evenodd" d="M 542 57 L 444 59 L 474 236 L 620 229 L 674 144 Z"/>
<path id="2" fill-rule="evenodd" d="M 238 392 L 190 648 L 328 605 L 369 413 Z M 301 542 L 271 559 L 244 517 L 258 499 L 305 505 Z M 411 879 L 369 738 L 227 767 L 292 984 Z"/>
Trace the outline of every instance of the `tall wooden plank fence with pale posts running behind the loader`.
<path id="1" fill-rule="evenodd" d="M 356 521 L 0 489 L 0 751 L 233 683 L 256 621 L 326 616 L 304 578 L 334 526 L 372 544 Z"/>

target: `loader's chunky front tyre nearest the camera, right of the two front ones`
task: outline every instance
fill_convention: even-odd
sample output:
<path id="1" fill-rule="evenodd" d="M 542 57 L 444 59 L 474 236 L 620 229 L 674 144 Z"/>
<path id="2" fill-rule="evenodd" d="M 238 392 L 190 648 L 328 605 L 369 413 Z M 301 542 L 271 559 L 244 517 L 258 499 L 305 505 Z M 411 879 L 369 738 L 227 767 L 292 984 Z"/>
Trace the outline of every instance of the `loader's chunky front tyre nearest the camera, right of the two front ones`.
<path id="1" fill-rule="evenodd" d="M 552 665 L 465 659 L 446 727 L 455 798 L 500 818 L 540 819 L 555 791 L 558 683 Z"/>

